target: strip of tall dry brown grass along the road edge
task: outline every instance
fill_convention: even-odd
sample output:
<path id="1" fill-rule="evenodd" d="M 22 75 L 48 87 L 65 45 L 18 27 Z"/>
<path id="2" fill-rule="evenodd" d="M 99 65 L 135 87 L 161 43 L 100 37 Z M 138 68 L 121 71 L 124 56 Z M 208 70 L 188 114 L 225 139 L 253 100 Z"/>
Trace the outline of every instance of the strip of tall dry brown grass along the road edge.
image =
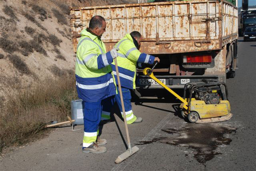
<path id="1" fill-rule="evenodd" d="M 8 87 L 4 92 L 7 108 L 0 115 L 0 152 L 42 137 L 51 121 L 66 121 L 70 102 L 77 99 L 74 76 L 43 80 L 23 91 Z"/>

